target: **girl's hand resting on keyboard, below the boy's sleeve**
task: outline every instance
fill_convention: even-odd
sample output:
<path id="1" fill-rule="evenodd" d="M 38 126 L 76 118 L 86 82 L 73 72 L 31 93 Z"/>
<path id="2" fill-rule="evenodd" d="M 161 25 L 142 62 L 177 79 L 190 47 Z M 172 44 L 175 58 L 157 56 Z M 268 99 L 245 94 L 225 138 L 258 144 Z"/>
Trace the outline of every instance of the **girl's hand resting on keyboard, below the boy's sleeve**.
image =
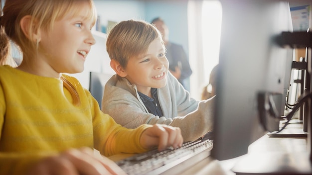
<path id="1" fill-rule="evenodd" d="M 180 128 L 155 124 L 142 133 L 140 143 L 144 148 L 151 149 L 158 146 L 158 150 L 162 151 L 170 146 L 181 147 L 183 138 Z"/>

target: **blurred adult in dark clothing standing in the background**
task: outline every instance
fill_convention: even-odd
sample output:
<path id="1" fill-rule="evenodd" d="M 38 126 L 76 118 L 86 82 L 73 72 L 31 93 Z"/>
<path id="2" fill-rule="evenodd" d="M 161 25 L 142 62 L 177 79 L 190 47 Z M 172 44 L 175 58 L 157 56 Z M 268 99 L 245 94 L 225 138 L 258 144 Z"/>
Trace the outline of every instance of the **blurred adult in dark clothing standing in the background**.
<path id="1" fill-rule="evenodd" d="M 169 71 L 185 89 L 189 90 L 184 81 L 192 74 L 192 70 L 182 45 L 169 41 L 169 29 L 160 17 L 154 18 L 151 23 L 156 26 L 162 35 L 166 47 L 166 57 L 169 62 Z"/>

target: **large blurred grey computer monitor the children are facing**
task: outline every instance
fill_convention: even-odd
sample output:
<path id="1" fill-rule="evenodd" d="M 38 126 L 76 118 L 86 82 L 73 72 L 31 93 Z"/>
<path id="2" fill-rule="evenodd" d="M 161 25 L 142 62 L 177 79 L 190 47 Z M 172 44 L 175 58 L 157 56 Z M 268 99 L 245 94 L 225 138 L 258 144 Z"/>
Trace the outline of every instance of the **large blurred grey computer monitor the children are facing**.
<path id="1" fill-rule="evenodd" d="M 276 38 L 293 28 L 286 1 L 220 2 L 220 69 L 211 156 L 226 160 L 246 154 L 248 146 L 267 132 L 260 124 L 259 93 L 280 94 L 275 103 L 283 114 L 293 49 L 279 46 Z M 279 120 L 270 122 L 278 127 Z"/>

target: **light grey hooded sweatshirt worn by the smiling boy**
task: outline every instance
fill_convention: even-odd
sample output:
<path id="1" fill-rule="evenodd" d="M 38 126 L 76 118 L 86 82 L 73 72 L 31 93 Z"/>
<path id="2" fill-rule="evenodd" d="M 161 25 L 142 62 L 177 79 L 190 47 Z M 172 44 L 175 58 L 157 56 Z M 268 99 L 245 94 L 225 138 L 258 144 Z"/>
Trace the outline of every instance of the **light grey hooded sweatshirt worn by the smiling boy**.
<path id="1" fill-rule="evenodd" d="M 215 97 L 203 101 L 191 98 L 189 92 L 170 74 L 167 84 L 158 88 L 158 99 L 164 116 L 149 113 L 136 85 L 114 75 L 105 85 L 102 111 L 126 128 L 142 124 L 166 124 L 179 127 L 184 141 L 193 141 L 212 130 Z"/>

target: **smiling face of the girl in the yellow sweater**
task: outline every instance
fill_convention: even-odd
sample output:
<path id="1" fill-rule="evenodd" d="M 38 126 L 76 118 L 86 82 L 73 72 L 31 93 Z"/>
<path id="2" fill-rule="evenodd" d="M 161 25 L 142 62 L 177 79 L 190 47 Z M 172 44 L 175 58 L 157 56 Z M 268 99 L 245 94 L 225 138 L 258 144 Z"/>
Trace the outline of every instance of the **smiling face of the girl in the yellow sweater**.
<path id="1" fill-rule="evenodd" d="M 66 15 L 55 21 L 51 30 L 40 30 L 38 69 L 43 76 L 59 77 L 60 73 L 80 73 L 84 62 L 95 44 L 91 28 L 93 22 L 86 19 L 88 5 L 75 15 Z M 55 76 L 54 76 L 55 75 Z"/>

